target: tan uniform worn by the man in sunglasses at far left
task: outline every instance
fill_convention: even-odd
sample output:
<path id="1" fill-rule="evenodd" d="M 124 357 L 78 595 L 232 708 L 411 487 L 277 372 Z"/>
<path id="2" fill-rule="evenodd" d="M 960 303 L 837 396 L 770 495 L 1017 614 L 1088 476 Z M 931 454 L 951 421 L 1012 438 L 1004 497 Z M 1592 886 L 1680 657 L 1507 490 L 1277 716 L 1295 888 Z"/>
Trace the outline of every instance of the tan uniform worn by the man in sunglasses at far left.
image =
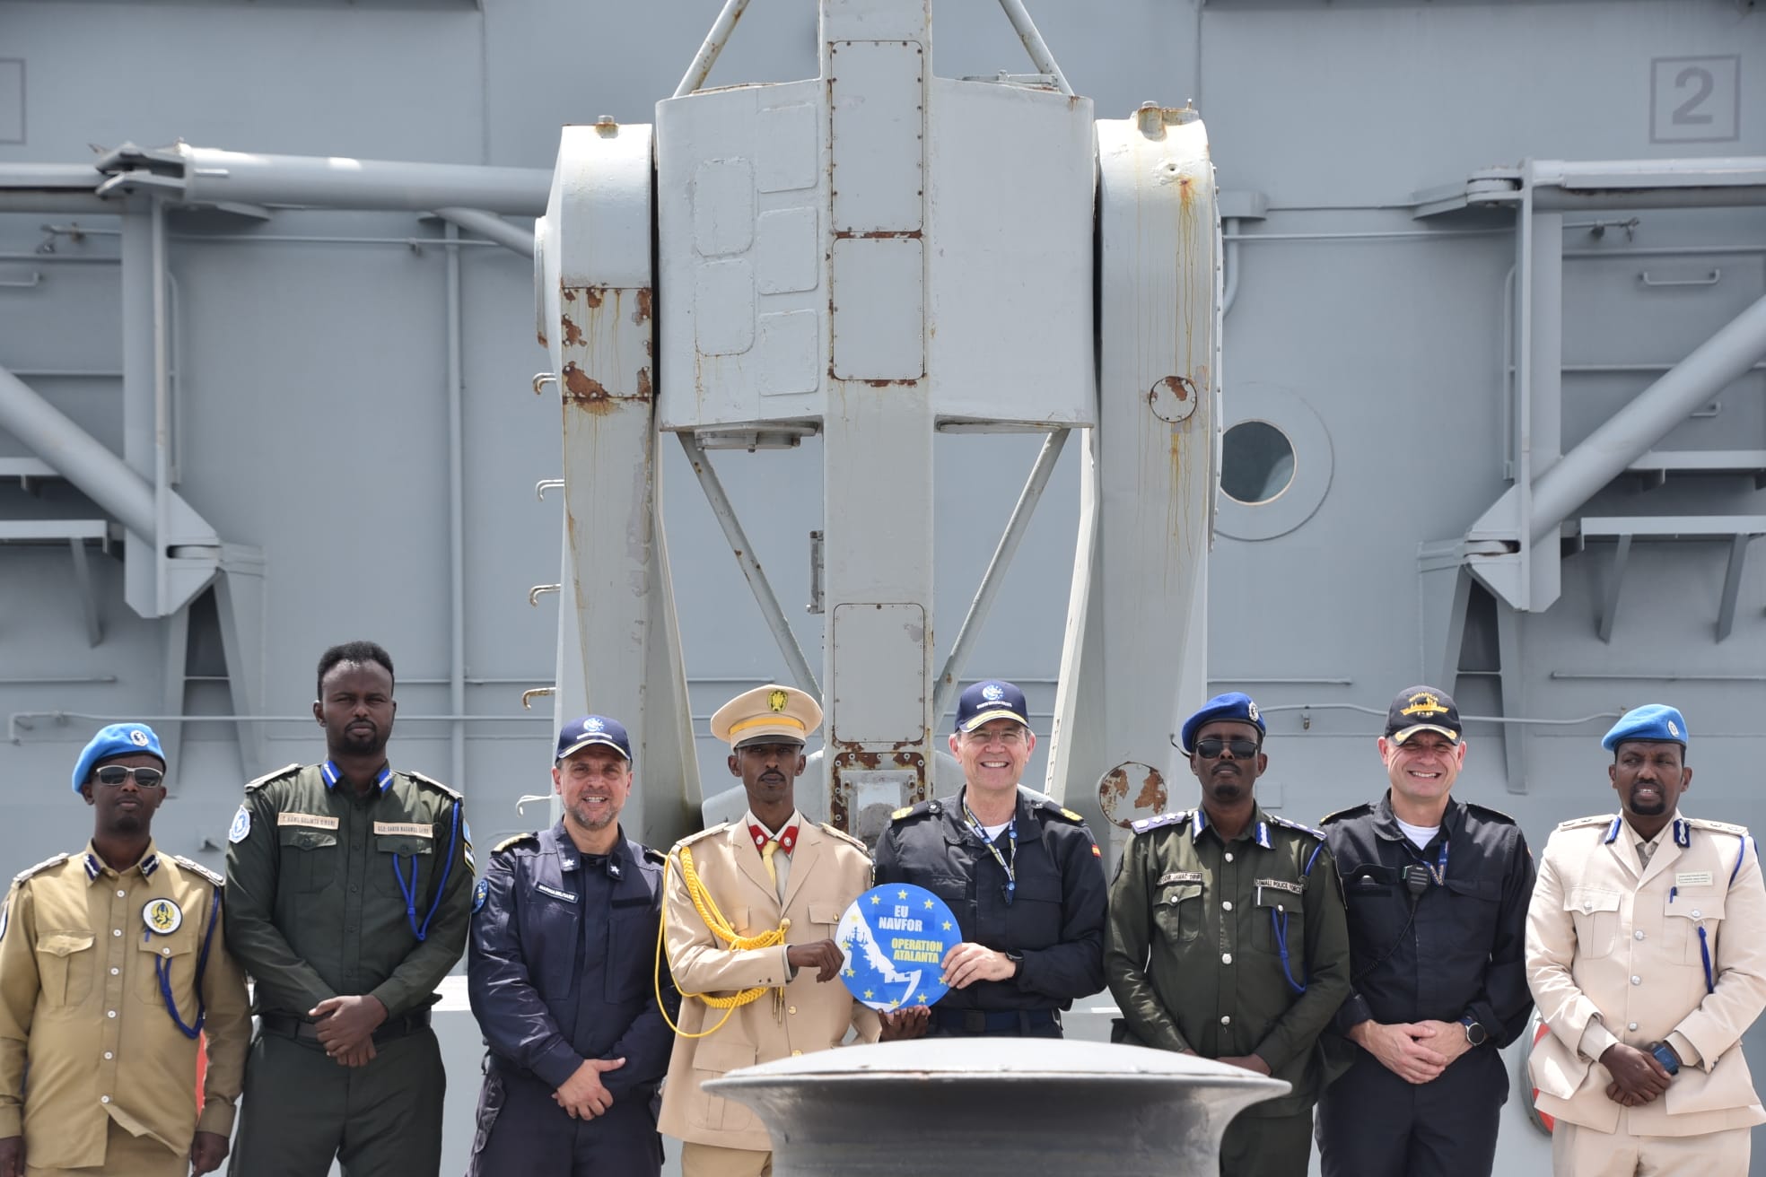
<path id="1" fill-rule="evenodd" d="M 108 1156 L 117 1128 L 159 1142 L 168 1159 L 187 1156 L 196 1131 L 231 1135 L 251 1013 L 221 919 L 196 992 L 221 886 L 221 875 L 152 843 L 122 872 L 88 845 L 12 882 L 0 926 L 0 1136 L 23 1131 L 32 1173 L 140 1173 Z M 161 974 L 184 1025 L 194 1029 L 200 1004 L 207 1009 L 201 1113 L 196 1039 L 173 1022 Z"/>

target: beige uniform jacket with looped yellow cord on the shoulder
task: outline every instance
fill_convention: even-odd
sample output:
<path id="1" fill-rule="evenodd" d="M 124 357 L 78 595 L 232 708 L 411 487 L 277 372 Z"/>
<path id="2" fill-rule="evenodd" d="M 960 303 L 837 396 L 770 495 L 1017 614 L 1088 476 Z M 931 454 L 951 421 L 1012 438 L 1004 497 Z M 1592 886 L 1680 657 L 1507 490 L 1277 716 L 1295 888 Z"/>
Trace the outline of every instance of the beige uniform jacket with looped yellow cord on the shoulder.
<path id="1" fill-rule="evenodd" d="M 662 928 L 682 992 L 682 1034 L 669 1057 L 657 1128 L 694 1143 L 770 1151 L 765 1124 L 747 1106 L 705 1092 L 703 1083 L 736 1068 L 839 1046 L 848 1027 L 857 1029 L 862 1041 L 876 1041 L 878 1015 L 857 1002 L 839 978 L 818 983 L 812 969 L 802 969 L 791 979 L 784 946 L 735 951 L 713 937 L 687 895 L 682 847 L 692 851 L 699 881 L 738 933 L 768 932 L 789 918 L 786 944 L 834 939 L 846 907 L 871 888 L 871 858 L 857 838 L 802 821 L 781 903 L 742 824 L 713 826 L 669 851 Z M 729 997 L 758 985 L 782 985 L 782 1006 L 775 1009 L 774 995 L 761 993 L 729 1013 L 719 1031 L 689 1038 L 712 1029 L 726 1013 L 694 993 Z"/>

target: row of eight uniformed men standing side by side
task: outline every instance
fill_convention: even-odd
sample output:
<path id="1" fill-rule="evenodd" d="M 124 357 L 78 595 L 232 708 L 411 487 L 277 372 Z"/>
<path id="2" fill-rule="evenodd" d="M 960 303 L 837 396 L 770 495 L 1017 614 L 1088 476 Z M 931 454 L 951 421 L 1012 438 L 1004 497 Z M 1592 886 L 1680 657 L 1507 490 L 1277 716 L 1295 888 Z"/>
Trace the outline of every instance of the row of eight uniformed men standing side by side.
<path id="1" fill-rule="evenodd" d="M 1679 812 L 1667 706 L 1607 732 L 1619 813 L 1561 824 L 1535 879 L 1513 821 L 1452 796 L 1446 692 L 1399 693 L 1390 789 L 1323 831 L 1257 803 L 1263 716 L 1217 695 L 1180 738 L 1199 806 L 1136 822 L 1106 884 L 1084 821 L 1021 787 L 1037 738 L 1005 681 L 959 701 L 962 789 L 895 812 L 874 863 L 796 808 L 821 709 L 761 686 L 712 718 L 740 821 L 666 856 L 627 838 L 630 741 L 592 715 L 558 736 L 558 824 L 477 872 L 461 796 L 387 762 L 392 695 L 380 646 L 325 651 L 327 759 L 245 787 L 224 879 L 154 845 L 150 727 L 87 745 L 90 843 L 19 873 L 0 912 L 0 1177 L 185 1177 L 230 1147 L 235 1177 L 436 1173 L 429 1011 L 463 951 L 489 1046 L 479 1177 L 653 1175 L 662 1133 L 685 1177 L 768 1173 L 766 1128 L 708 1080 L 855 1039 L 1060 1038 L 1106 985 L 1116 1041 L 1289 1083 L 1233 1121 L 1222 1173 L 1298 1177 L 1314 1138 L 1328 1177 L 1491 1173 L 1498 1048 L 1535 1002 L 1558 1173 L 1740 1175 L 1766 1122 L 1740 1045 L 1766 1006 L 1757 849 Z M 955 914 L 936 1004 L 879 1013 L 837 981 L 835 925 L 872 882 Z"/>

